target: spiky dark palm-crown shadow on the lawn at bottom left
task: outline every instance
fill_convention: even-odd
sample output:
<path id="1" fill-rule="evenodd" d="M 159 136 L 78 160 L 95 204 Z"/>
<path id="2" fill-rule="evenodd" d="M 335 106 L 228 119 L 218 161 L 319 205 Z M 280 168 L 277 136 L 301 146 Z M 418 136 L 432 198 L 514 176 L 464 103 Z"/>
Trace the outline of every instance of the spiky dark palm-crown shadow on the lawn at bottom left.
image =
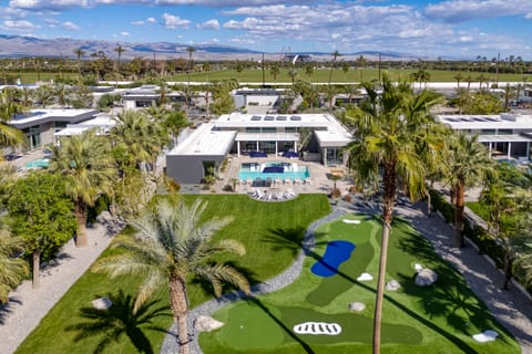
<path id="1" fill-rule="evenodd" d="M 102 337 L 94 348 L 94 353 L 102 353 L 112 342 L 120 342 L 126 336 L 139 353 L 153 354 L 152 344 L 144 334 L 145 330 L 166 333 L 166 329 L 153 324 L 153 319 L 172 316 L 167 306 L 157 306 L 158 300 L 146 302 L 136 313 L 133 313 L 135 299 L 120 290 L 116 294 L 106 294 L 113 302 L 108 310 L 98 310 L 92 306 L 82 308 L 80 315 L 86 322 L 66 326 L 66 331 L 76 331 L 74 341 L 86 337 Z"/>

